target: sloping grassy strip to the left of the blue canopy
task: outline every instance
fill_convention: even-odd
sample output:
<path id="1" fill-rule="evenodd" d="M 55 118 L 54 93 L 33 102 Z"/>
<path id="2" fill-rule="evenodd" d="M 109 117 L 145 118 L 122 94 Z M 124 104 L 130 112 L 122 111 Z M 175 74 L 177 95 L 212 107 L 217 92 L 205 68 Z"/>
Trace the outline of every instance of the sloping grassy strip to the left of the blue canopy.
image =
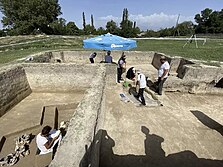
<path id="1" fill-rule="evenodd" d="M 18 36 L 2 38 L 0 64 L 49 50 L 73 50 L 82 48 L 82 38 L 62 36 Z"/>

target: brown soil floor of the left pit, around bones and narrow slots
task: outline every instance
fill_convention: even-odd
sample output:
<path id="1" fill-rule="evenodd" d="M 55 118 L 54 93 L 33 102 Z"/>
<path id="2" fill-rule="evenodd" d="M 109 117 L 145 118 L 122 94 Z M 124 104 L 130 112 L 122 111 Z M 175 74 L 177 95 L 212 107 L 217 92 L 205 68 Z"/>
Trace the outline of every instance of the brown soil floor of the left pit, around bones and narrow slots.
<path id="1" fill-rule="evenodd" d="M 0 148 L 0 158 L 14 153 L 16 137 L 32 134 L 32 141 L 29 145 L 30 155 L 21 157 L 14 166 L 40 167 L 49 164 L 52 155 L 45 157 L 36 155 L 35 136 L 45 125 L 54 127 L 55 123 L 59 126 L 61 121 L 69 121 L 78 103 L 82 100 L 84 92 L 84 90 L 78 90 L 76 93 L 32 93 L 23 99 L 0 118 L 0 137 L 2 139 L 4 136 L 6 139 Z M 43 110 L 44 106 L 45 110 Z"/>

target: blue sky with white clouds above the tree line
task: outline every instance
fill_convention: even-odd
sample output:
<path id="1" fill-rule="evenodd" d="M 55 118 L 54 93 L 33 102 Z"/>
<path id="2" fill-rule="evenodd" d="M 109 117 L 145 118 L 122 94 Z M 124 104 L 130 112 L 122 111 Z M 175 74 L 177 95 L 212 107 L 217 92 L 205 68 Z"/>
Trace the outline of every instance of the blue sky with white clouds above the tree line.
<path id="1" fill-rule="evenodd" d="M 83 12 L 86 24 L 90 24 L 92 14 L 94 26 L 105 28 L 111 20 L 119 26 L 123 9 L 127 8 L 129 20 L 136 21 L 140 29 L 159 30 L 175 26 L 179 15 L 179 23 L 194 22 L 194 16 L 205 8 L 223 9 L 223 0 L 59 0 L 59 4 L 63 13 L 59 17 L 75 22 L 81 29 Z"/>

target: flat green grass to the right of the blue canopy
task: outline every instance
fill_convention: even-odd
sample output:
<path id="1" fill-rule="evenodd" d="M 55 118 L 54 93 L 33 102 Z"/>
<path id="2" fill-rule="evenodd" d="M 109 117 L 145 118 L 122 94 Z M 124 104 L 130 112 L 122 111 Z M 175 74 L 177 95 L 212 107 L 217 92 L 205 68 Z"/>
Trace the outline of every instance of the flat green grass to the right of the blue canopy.
<path id="1" fill-rule="evenodd" d="M 184 48 L 186 41 L 173 40 L 138 40 L 138 51 L 156 51 L 170 56 L 180 56 L 198 60 L 223 61 L 223 40 L 207 40 L 205 45 L 203 41 L 198 41 L 198 48 L 195 42 L 188 43 Z"/>

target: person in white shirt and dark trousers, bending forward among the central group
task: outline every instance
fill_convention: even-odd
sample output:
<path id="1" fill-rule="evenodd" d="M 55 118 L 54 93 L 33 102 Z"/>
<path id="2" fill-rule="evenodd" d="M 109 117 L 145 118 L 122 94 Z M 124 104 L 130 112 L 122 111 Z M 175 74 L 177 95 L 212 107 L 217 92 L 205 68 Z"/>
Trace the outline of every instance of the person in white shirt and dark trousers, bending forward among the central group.
<path id="1" fill-rule="evenodd" d="M 143 93 L 146 88 L 146 77 L 143 73 L 141 73 L 141 70 L 139 70 L 137 73 L 138 73 L 138 77 L 137 77 L 136 86 L 139 85 L 139 92 L 138 92 L 138 95 L 136 96 L 136 98 L 138 98 L 138 99 L 140 98 L 142 105 L 145 106 L 146 102 L 145 102 Z"/>

